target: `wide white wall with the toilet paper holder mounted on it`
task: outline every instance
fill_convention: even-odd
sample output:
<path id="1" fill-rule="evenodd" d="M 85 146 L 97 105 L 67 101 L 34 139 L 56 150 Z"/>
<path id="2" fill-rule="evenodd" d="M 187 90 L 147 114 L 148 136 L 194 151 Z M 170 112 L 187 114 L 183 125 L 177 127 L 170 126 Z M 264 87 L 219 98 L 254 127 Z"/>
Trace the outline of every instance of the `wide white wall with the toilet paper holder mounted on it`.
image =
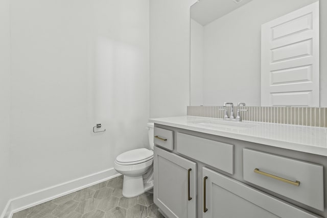
<path id="1" fill-rule="evenodd" d="M 11 20 L 12 198 L 148 145 L 148 0 L 12 0 Z"/>

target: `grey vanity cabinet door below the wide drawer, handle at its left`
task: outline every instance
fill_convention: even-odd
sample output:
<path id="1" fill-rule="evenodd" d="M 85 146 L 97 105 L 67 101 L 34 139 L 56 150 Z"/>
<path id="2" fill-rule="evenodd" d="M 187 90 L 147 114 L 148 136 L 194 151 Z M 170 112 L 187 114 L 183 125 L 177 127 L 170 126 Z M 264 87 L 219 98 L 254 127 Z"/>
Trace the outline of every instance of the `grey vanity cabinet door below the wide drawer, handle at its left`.
<path id="1" fill-rule="evenodd" d="M 203 218 L 320 217 L 203 167 Z"/>

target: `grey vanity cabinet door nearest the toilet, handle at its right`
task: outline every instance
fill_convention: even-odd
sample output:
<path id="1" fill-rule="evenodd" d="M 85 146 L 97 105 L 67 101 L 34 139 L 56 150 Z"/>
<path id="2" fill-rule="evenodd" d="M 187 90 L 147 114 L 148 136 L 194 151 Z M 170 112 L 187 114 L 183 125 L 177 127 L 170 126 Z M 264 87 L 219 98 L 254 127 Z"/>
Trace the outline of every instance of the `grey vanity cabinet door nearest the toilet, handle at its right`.
<path id="1" fill-rule="evenodd" d="M 154 147 L 154 203 L 169 218 L 196 217 L 196 163 Z"/>

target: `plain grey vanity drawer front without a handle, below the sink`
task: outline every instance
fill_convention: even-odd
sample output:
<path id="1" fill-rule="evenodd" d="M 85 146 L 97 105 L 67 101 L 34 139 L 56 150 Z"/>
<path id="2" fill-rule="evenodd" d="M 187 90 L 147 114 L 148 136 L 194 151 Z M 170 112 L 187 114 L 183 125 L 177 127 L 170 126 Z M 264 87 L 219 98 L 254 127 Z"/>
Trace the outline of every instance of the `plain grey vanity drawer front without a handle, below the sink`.
<path id="1" fill-rule="evenodd" d="M 233 144 L 177 133 L 177 152 L 229 174 L 234 173 Z"/>

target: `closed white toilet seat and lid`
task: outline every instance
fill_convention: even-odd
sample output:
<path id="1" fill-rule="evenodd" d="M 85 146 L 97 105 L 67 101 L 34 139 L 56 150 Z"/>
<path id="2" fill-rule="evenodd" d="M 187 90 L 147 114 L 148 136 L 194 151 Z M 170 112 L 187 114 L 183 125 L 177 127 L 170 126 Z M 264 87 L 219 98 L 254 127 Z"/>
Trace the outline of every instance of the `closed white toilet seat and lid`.
<path id="1" fill-rule="evenodd" d="M 119 155 L 115 162 L 119 165 L 134 165 L 153 159 L 153 151 L 148 149 L 134 149 Z"/>

